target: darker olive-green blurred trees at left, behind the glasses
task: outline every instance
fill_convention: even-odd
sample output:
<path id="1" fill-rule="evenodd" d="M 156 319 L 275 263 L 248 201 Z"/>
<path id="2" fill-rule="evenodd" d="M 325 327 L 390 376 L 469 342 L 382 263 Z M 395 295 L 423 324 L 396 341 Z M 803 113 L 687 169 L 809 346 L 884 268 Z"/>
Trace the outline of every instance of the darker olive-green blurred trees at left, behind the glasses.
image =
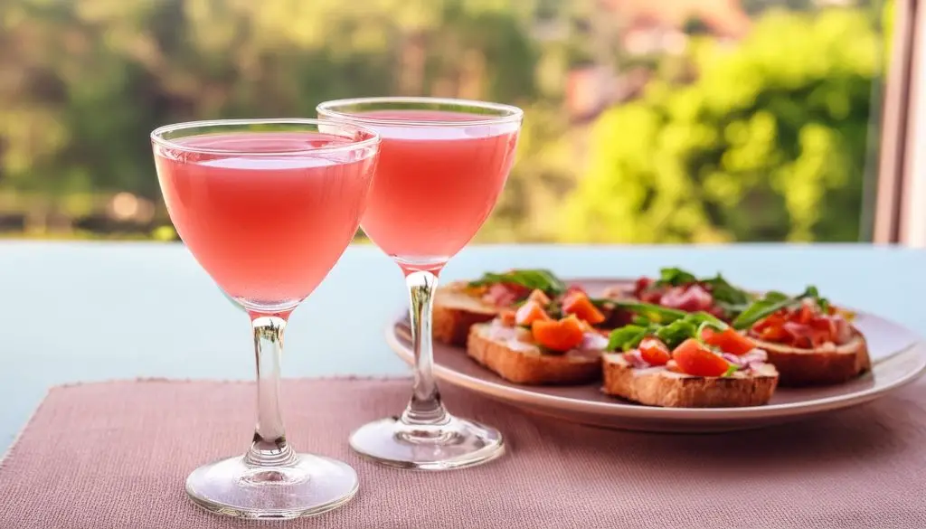
<path id="1" fill-rule="evenodd" d="M 315 116 L 358 95 L 528 101 L 526 4 L 0 2 L 0 190 L 41 197 L 46 217 L 88 192 L 157 199 L 147 135 L 172 121 Z"/>

